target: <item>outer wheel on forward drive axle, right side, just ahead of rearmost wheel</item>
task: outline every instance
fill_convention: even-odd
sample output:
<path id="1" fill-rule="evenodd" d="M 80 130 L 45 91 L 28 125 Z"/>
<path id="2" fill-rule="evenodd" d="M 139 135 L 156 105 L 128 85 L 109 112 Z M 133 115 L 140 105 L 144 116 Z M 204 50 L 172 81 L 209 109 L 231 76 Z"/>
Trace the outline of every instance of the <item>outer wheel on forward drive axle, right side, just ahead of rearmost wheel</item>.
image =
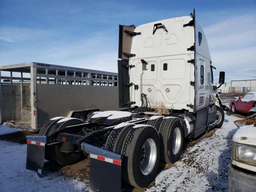
<path id="1" fill-rule="evenodd" d="M 166 118 L 158 130 L 161 141 L 161 160 L 166 163 L 176 162 L 181 155 L 184 143 L 184 130 L 178 118 Z"/>

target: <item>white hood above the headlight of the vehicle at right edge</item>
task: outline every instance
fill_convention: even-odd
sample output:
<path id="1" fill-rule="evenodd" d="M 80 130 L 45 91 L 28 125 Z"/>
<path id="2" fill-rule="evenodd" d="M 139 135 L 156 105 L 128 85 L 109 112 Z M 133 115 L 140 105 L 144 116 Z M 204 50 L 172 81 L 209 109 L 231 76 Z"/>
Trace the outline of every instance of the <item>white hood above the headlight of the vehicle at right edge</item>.
<path id="1" fill-rule="evenodd" d="M 239 128 L 234 134 L 232 141 L 256 146 L 256 127 L 248 125 Z"/>

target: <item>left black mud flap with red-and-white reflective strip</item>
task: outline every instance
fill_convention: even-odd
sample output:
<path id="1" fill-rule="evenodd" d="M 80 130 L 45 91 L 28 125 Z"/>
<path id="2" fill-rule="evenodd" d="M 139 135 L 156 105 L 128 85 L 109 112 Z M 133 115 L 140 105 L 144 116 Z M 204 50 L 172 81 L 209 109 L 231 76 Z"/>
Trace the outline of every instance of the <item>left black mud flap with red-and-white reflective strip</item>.
<path id="1" fill-rule="evenodd" d="M 39 175 L 44 168 L 44 154 L 46 136 L 26 136 L 27 139 L 27 160 L 26 169 L 34 170 Z"/>

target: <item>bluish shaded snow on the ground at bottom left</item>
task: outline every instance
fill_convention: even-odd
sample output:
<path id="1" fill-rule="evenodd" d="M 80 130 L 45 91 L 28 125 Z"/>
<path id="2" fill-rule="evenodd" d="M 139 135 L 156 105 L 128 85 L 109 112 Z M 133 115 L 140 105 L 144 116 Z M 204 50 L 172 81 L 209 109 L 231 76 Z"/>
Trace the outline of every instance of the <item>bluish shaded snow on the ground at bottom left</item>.
<path id="1" fill-rule="evenodd" d="M 40 178 L 36 172 L 26 170 L 26 144 L 0 140 L 1 192 L 73 192 L 86 191 L 86 184 L 57 173 Z"/>

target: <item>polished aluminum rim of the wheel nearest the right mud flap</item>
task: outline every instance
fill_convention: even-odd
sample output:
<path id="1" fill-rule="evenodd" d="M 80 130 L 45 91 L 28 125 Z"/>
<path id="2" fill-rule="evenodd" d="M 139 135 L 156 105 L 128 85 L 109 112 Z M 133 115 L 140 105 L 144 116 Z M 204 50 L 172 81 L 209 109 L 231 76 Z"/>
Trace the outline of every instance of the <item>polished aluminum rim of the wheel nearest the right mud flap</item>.
<path id="1" fill-rule="evenodd" d="M 140 170 L 144 175 L 152 172 L 156 163 L 156 143 L 153 139 L 147 139 L 140 151 Z"/>

